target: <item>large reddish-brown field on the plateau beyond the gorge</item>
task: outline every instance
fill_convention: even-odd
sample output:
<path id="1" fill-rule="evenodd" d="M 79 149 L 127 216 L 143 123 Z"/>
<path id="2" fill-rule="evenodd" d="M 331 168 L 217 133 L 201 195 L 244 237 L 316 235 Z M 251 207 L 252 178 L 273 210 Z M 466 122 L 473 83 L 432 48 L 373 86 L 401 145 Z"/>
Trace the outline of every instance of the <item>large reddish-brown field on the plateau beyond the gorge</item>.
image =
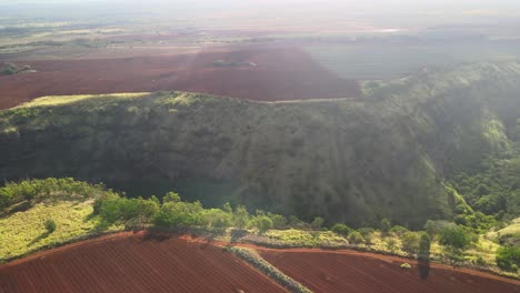
<path id="1" fill-rule="evenodd" d="M 257 65 L 214 67 L 213 61 Z M 42 95 L 181 90 L 280 101 L 357 98 L 356 81 L 338 78 L 291 47 L 234 47 L 198 53 L 88 60 L 17 61 L 38 72 L 0 77 L 0 109 Z"/>

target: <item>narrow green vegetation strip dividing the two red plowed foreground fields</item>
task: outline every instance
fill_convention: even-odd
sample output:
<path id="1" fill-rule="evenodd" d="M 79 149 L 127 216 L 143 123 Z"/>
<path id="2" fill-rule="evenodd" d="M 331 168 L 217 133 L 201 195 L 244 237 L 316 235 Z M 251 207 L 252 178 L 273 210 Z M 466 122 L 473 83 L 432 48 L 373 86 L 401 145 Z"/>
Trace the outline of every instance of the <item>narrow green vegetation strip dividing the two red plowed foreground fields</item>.
<path id="1" fill-rule="evenodd" d="M 262 259 L 256 251 L 249 249 L 227 246 L 227 251 L 230 251 L 241 257 L 242 260 L 250 263 L 252 266 L 262 271 L 266 275 L 273 279 L 282 286 L 289 289 L 291 292 L 297 293 L 312 293 L 308 287 L 303 286 L 299 282 L 294 281 L 292 277 L 283 274 L 280 270 L 274 267 L 272 264 Z"/>

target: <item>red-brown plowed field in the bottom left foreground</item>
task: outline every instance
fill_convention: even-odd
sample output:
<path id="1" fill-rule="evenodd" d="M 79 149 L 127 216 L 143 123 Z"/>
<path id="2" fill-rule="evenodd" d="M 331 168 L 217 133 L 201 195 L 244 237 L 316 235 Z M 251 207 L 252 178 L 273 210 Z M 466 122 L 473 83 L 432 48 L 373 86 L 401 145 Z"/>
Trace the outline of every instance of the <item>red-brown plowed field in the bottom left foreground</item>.
<path id="1" fill-rule="evenodd" d="M 119 234 L 0 266 L 0 292 L 287 292 L 221 247 Z"/>

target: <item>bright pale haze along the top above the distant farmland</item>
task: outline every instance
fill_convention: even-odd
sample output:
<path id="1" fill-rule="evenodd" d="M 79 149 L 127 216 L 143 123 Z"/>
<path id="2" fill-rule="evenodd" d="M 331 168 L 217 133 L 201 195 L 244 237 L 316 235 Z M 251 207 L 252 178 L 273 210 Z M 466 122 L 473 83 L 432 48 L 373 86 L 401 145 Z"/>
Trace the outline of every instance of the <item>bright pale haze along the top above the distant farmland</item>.
<path id="1" fill-rule="evenodd" d="M 63 18 L 171 13 L 172 18 L 233 16 L 237 21 L 266 17 L 302 22 L 312 17 L 312 21 L 348 19 L 392 29 L 520 20 L 520 0 L 0 0 L 0 18 L 49 13 Z"/>

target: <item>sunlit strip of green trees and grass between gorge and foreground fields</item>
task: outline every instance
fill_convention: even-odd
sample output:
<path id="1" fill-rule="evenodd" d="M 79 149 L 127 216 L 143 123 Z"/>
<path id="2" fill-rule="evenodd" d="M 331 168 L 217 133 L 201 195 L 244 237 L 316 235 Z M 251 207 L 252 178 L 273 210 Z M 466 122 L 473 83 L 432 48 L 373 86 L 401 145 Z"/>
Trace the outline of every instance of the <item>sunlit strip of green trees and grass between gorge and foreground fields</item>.
<path id="1" fill-rule="evenodd" d="M 207 209 L 179 194 L 126 198 L 102 184 L 73 179 L 8 182 L 0 188 L 0 260 L 89 239 L 109 231 L 149 230 L 206 234 L 231 243 L 268 247 L 354 249 L 387 255 L 464 266 L 518 279 L 518 249 L 477 234 L 468 226 L 428 221 L 426 231 L 409 231 L 382 219 L 379 229 L 353 230 L 342 223 L 327 228 L 322 218 L 306 223 L 296 216 L 224 204 Z M 518 221 L 497 233 L 511 234 Z M 474 234 L 473 234 L 474 233 Z M 422 241 L 424 240 L 424 241 Z M 428 250 L 421 250 L 421 243 Z M 431 250 L 430 250 L 431 246 Z M 422 251 L 422 252 L 421 252 Z"/>

